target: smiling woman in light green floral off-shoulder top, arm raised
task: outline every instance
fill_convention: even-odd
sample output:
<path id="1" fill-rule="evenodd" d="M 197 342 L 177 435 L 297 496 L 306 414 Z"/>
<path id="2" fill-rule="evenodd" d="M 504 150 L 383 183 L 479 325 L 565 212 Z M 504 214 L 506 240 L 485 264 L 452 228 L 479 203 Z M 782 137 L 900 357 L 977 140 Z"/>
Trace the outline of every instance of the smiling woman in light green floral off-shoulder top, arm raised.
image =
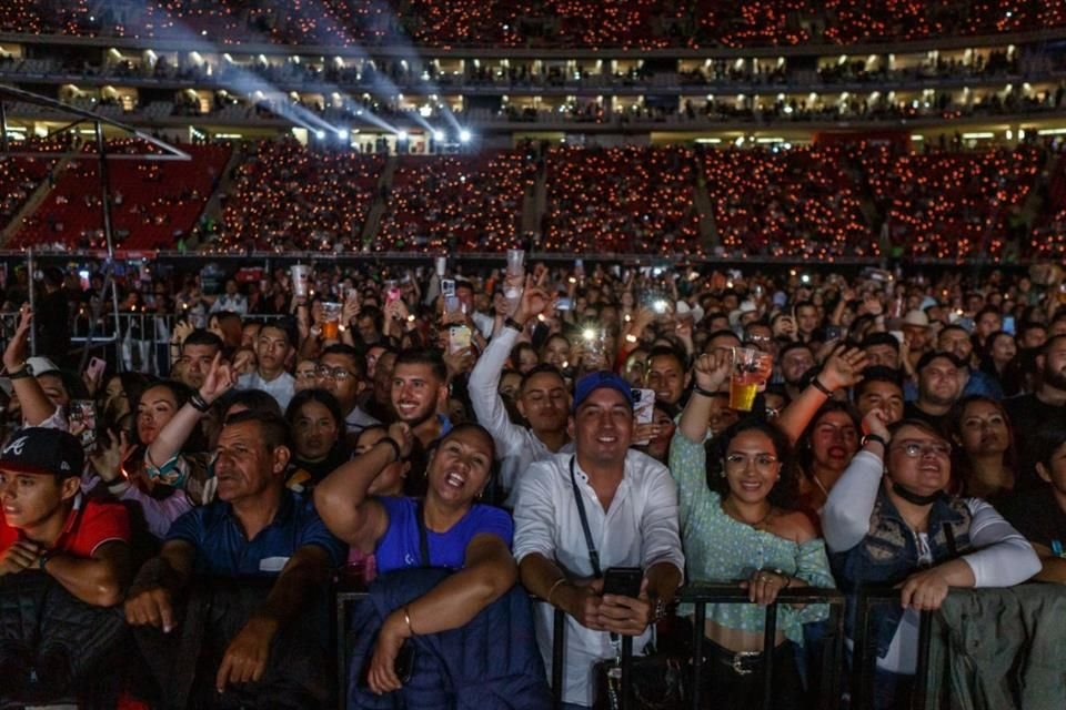
<path id="1" fill-rule="evenodd" d="M 765 610 L 782 589 L 833 587 L 825 545 L 809 519 L 787 507 L 795 500 L 796 469 L 787 437 L 758 419 L 745 419 L 715 439 L 707 458 L 712 393 L 730 376 L 731 353 L 700 357 L 696 387 L 671 444 L 688 579 L 737 582 L 752 605 L 707 605 L 708 691 L 724 707 L 758 704 L 763 682 Z M 692 609 L 682 609 L 692 612 Z M 774 708 L 807 706 L 792 643 L 803 625 L 824 619 L 824 606 L 778 609 L 774 653 Z"/>

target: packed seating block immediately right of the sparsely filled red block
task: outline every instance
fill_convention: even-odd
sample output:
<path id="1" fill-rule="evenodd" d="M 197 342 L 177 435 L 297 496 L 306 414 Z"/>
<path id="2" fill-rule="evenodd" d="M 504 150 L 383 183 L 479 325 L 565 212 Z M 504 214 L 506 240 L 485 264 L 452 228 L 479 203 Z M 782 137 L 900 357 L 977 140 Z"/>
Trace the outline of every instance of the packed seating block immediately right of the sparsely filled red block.
<path id="1" fill-rule="evenodd" d="M 222 248 L 332 251 L 359 244 L 382 155 L 257 143 L 223 211 Z"/>

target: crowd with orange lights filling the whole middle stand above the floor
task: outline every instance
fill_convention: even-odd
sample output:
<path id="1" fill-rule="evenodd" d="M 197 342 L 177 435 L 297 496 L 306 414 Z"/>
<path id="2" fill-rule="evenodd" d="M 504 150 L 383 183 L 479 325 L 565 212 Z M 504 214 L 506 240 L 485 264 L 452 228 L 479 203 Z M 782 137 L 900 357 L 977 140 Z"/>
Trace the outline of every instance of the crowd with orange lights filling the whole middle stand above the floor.
<path id="1" fill-rule="evenodd" d="M 921 150 L 875 140 L 694 149 L 525 142 L 402 155 L 394 171 L 369 143 L 358 151 L 292 139 L 183 144 L 188 164 L 112 161 L 111 212 L 124 248 L 183 248 L 195 235 L 198 248 L 213 252 L 502 252 L 539 233 L 539 250 L 564 253 L 1056 258 L 1066 250 L 1066 160 L 1060 143 L 1032 139 L 976 150 L 958 134 Z M 237 168 L 219 194 L 221 219 L 201 219 L 231 151 Z M 8 221 L 51 181 L 12 244 L 103 248 L 94 159 L 60 170 L 47 158 L 10 158 L 0 169 L 11 186 Z"/>

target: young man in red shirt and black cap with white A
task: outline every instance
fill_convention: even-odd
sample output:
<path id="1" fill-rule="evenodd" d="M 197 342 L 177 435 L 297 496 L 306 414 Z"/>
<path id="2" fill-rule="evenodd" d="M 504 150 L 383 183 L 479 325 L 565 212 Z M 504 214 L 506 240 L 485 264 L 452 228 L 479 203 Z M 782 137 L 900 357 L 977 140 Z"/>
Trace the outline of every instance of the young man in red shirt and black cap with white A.
<path id="1" fill-rule="evenodd" d="M 122 601 L 130 524 L 119 504 L 81 495 L 84 454 L 60 429 L 22 429 L 0 450 L 0 579 L 40 569 L 78 599 Z"/>

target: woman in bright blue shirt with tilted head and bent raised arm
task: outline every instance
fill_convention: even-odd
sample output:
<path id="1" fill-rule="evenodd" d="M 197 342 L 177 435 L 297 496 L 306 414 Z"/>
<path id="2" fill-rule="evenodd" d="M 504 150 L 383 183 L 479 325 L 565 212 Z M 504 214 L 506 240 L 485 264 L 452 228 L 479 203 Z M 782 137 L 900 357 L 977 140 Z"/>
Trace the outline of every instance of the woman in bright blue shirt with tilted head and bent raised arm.
<path id="1" fill-rule="evenodd" d="M 393 667 L 405 639 L 466 625 L 517 579 L 511 517 L 475 503 L 489 485 L 495 456 L 492 436 L 483 427 L 461 424 L 441 439 L 426 467 L 424 500 L 366 495 L 384 468 L 411 453 L 413 440 L 408 425 L 393 424 L 388 437 L 314 489 L 315 506 L 330 531 L 361 552 L 374 554 L 379 574 L 406 567 L 456 570 L 385 619 L 368 677 L 370 689 L 379 693 L 401 688 Z"/>

